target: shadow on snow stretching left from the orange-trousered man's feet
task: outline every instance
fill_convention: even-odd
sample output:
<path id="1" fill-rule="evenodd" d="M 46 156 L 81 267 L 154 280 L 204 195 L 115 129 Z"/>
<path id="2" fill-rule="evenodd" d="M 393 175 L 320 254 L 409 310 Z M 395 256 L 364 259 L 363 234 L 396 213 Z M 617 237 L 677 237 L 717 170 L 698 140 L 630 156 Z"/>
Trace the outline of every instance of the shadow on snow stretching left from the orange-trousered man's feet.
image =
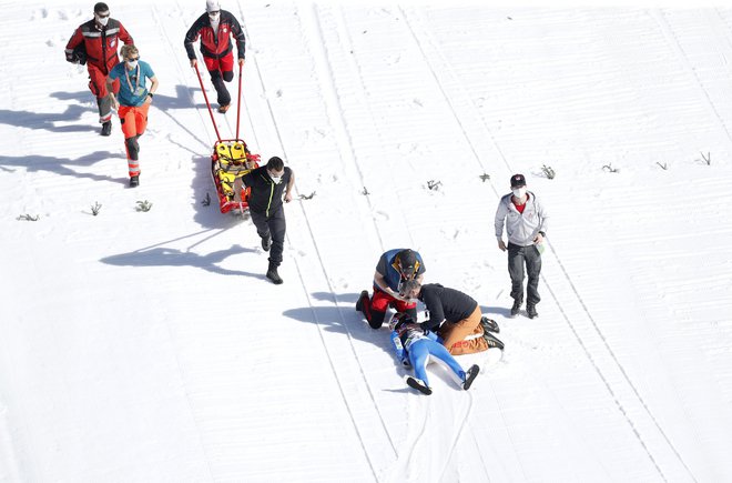
<path id="1" fill-rule="evenodd" d="M 49 147 L 49 151 L 53 151 L 52 147 Z M 112 158 L 125 159 L 120 153 L 113 153 L 110 151 L 94 151 L 89 154 L 84 154 L 81 158 L 69 159 L 69 158 L 57 158 L 49 155 L 17 155 L 8 157 L 0 155 L 0 170 L 3 171 L 13 171 L 13 168 L 24 168 L 29 172 L 41 172 L 48 171 L 64 177 L 74 177 L 80 179 L 90 179 L 93 181 L 113 181 L 126 183 L 126 178 L 111 178 L 98 173 L 84 173 L 79 172 L 72 169 L 71 167 L 84 167 L 90 168 L 100 161 L 106 161 Z"/>

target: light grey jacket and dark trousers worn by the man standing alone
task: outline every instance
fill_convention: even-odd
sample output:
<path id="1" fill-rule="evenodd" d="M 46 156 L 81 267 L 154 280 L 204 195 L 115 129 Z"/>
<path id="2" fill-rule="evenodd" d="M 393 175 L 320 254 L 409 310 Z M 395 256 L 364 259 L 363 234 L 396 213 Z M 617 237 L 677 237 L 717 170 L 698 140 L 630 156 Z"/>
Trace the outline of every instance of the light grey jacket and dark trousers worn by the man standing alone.
<path id="1" fill-rule="evenodd" d="M 504 235 L 504 223 L 508 234 L 508 273 L 511 276 L 511 298 L 523 301 L 523 264 L 529 275 L 526 286 L 527 305 L 536 305 L 539 296 L 539 274 L 541 273 L 541 254 L 533 243 L 539 232 L 545 233 L 548 228 L 549 215 L 537 199 L 536 194 L 527 191 L 527 201 L 523 211 L 519 212 L 511 201 L 511 194 L 506 194 L 498 202 L 496 210 L 496 238 L 500 241 Z"/>

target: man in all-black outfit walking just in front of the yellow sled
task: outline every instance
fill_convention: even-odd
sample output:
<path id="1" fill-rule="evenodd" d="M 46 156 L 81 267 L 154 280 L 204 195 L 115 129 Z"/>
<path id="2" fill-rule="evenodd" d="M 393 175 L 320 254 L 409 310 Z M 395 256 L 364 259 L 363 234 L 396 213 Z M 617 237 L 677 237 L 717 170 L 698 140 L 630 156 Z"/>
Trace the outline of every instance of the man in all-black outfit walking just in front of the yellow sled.
<path id="1" fill-rule="evenodd" d="M 244 174 L 242 181 L 252 189 L 248 200 L 250 214 L 257 234 L 262 238 L 262 249 L 265 252 L 272 249 L 267 279 L 278 285 L 283 282 L 277 266 L 282 263 L 286 230 L 283 199 L 285 203 L 293 199 L 295 173 L 285 167 L 282 159 L 273 157 L 266 165 Z"/>

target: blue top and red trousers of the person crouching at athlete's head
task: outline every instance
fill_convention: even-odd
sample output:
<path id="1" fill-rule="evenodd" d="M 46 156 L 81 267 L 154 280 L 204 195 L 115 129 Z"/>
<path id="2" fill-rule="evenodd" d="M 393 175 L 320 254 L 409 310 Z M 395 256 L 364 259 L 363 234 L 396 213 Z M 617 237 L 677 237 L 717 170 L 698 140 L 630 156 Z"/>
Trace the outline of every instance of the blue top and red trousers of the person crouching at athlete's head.
<path id="1" fill-rule="evenodd" d="M 396 249 L 385 252 L 376 265 L 376 271 L 384 275 L 386 284 L 395 292 L 398 292 L 401 288 L 401 284 L 405 282 L 405 279 L 396 264 L 397 254 L 403 250 L 404 249 Z M 419 276 L 420 274 L 425 273 L 425 263 L 421 261 L 421 255 L 419 253 L 415 252 L 415 254 L 417 255 L 417 261 L 419 262 L 419 269 L 416 275 Z M 379 289 L 376 282 L 374 282 L 374 295 L 372 296 L 370 301 L 366 301 L 364 303 L 362 309 L 364 315 L 366 315 L 366 320 L 368 320 L 368 324 L 373 329 L 378 329 L 384 324 L 386 310 L 389 306 L 394 306 L 397 312 L 404 312 L 411 316 L 413 320 L 417 320 L 416 303 L 409 303 L 395 299 L 390 294 Z"/>

